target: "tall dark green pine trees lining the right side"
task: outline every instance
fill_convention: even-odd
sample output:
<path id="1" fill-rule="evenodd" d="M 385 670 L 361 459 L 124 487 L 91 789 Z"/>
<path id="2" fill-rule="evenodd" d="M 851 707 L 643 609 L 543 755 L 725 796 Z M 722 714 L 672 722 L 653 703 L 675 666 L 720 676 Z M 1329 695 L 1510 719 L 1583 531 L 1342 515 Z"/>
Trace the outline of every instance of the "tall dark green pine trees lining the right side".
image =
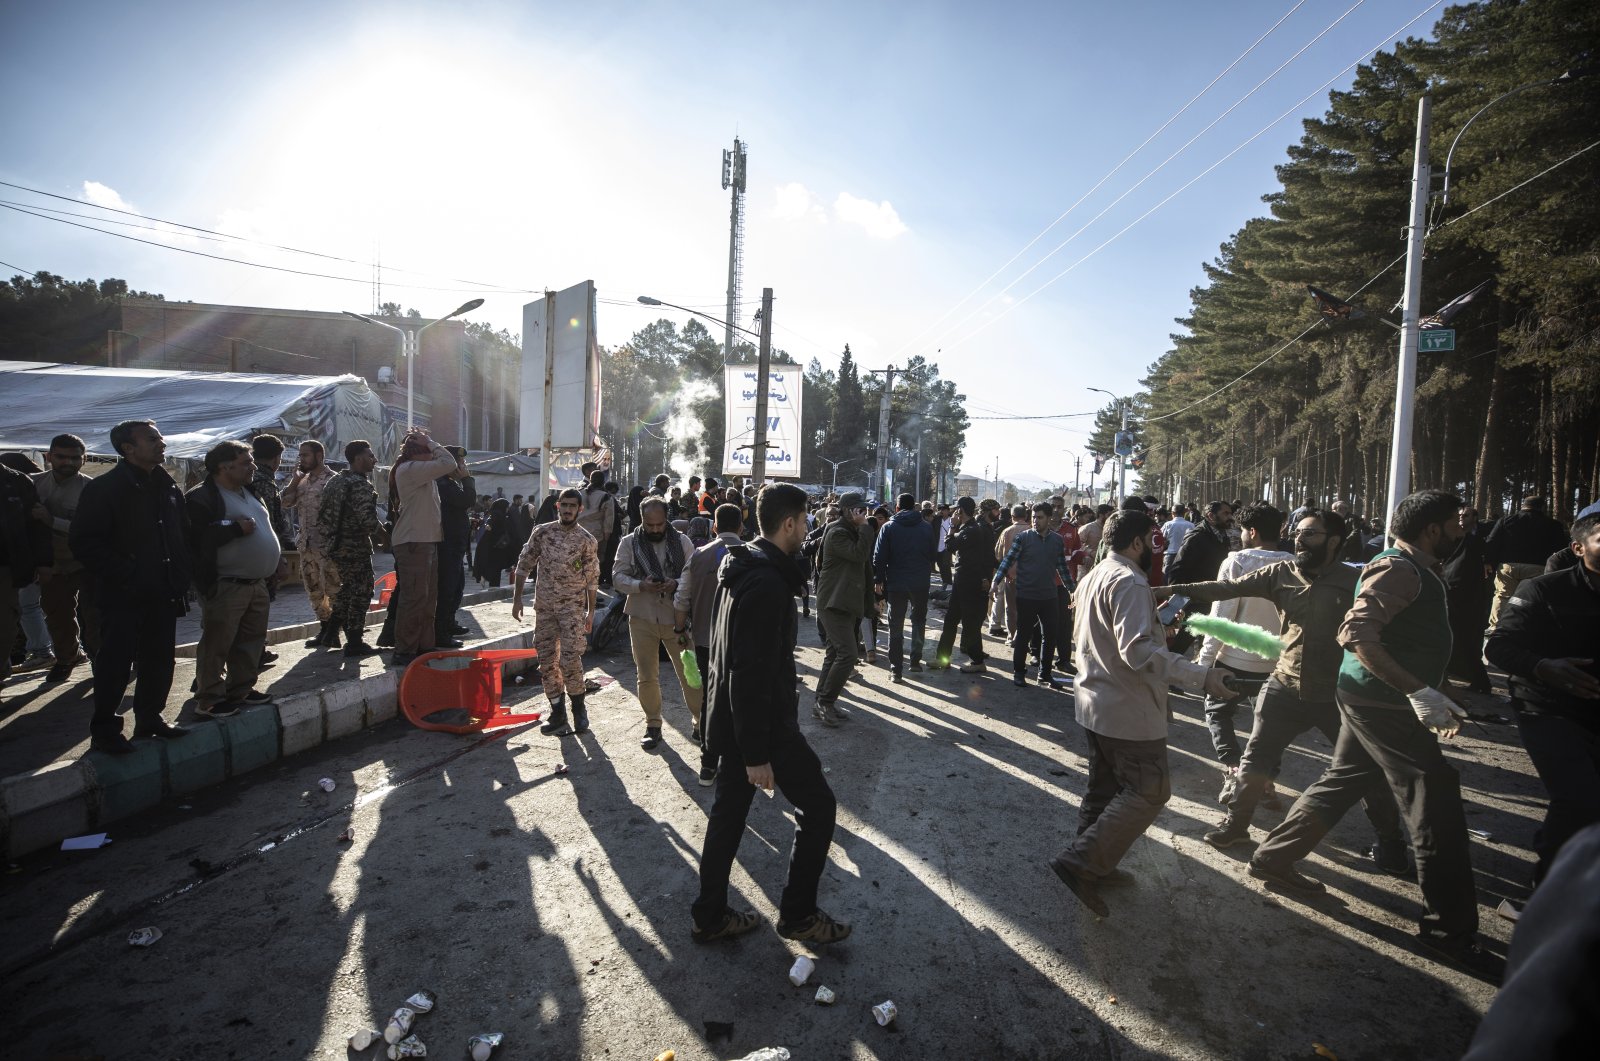
<path id="1" fill-rule="evenodd" d="M 1386 322 L 1398 322 L 1418 101 L 1429 93 L 1435 195 L 1421 312 L 1485 286 L 1450 322 L 1454 352 L 1419 355 L 1413 486 L 1458 491 L 1483 512 L 1523 496 L 1547 496 L 1558 514 L 1594 501 L 1597 40 L 1594 0 L 1467 3 L 1445 11 L 1432 40 L 1378 53 L 1349 91 L 1331 93 L 1277 166 L 1266 216 L 1205 266 L 1182 331 L 1133 397 L 1141 490 L 1261 496 L 1275 467 L 1282 501 L 1382 510 L 1398 349 Z M 1445 203 L 1443 162 L 1469 120 Z M 1307 285 L 1355 312 L 1318 323 Z M 1110 453 L 1115 421 L 1101 411 L 1094 451 Z"/>

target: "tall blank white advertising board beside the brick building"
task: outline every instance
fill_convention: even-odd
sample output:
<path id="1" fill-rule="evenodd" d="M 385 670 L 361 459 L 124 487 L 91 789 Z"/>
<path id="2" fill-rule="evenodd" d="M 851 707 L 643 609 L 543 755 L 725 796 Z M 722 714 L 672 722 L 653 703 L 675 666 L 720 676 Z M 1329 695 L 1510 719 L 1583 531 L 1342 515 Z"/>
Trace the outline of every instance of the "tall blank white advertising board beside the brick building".
<path id="1" fill-rule="evenodd" d="M 517 445 L 541 450 L 550 414 L 550 448 L 587 450 L 600 430 L 600 347 L 595 346 L 592 280 L 546 291 L 522 307 L 522 421 Z"/>

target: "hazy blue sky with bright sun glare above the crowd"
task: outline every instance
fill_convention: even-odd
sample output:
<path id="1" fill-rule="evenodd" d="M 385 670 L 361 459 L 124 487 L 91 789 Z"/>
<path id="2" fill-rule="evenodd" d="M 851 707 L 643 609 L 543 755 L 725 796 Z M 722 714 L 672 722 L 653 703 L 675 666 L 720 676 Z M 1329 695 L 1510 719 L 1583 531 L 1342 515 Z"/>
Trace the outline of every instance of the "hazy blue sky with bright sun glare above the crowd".
<path id="1" fill-rule="evenodd" d="M 1126 394 L 1170 346 L 1200 262 L 1262 213 L 1272 166 L 1299 120 L 1325 110 L 1328 86 L 1347 86 L 1354 64 L 1397 35 L 1427 35 L 1440 11 L 1427 0 L 3 3 L 0 179 L 381 258 L 386 301 L 438 315 L 482 294 L 475 317 L 512 331 L 530 299 L 518 290 L 594 280 L 611 346 L 661 315 L 632 304 L 638 294 L 722 315 L 720 162 L 739 134 L 742 323 L 771 286 L 774 344 L 802 362 L 832 368 L 846 342 L 866 368 L 922 354 L 974 418 L 1086 413 L 1102 398 L 1085 387 Z M 101 213 L 16 189 L 0 200 Z M 0 210 L 0 261 L 6 275 L 115 275 L 200 302 L 373 307 L 368 264 L 120 230 L 350 280 L 14 210 Z M 1006 478 L 1070 482 L 1066 450 L 1083 450 L 1090 422 L 974 419 L 965 469 L 998 458 Z"/>

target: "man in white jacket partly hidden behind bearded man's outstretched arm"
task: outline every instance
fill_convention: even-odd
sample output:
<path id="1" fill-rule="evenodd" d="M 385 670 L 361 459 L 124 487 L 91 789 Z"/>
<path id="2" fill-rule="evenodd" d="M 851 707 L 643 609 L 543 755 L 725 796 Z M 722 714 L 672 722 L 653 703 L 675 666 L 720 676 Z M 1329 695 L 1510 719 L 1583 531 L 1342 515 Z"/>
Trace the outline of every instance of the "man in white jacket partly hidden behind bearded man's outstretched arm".
<path id="1" fill-rule="evenodd" d="M 1269 563 L 1294 559 L 1293 552 L 1280 552 L 1277 549 L 1278 535 L 1283 531 L 1283 514 L 1266 501 L 1254 501 L 1245 506 L 1237 522 L 1240 525 L 1243 549 L 1227 554 L 1222 567 L 1218 568 L 1218 581 L 1240 578 Z M 1218 600 L 1211 605 L 1211 615 L 1234 623 L 1248 623 L 1272 634 L 1282 629 L 1277 607 L 1261 597 Z M 1254 703 L 1261 687 L 1266 685 L 1267 677 L 1272 674 L 1274 661 L 1248 653 L 1243 648 L 1224 645 L 1216 637 L 1206 637 L 1200 645 L 1200 655 L 1195 658 L 1195 663 L 1203 667 L 1214 664 L 1232 675 L 1230 685 L 1238 693 L 1237 698 L 1229 699 L 1205 698 L 1205 723 L 1211 730 L 1211 747 L 1216 749 L 1218 762 L 1222 763 L 1222 770 L 1226 771 L 1222 794 L 1218 795 L 1218 802 L 1226 807 L 1229 797 L 1238 787 L 1238 760 L 1242 755 L 1238 735 L 1234 731 L 1234 712 L 1238 711 L 1240 704 Z"/>

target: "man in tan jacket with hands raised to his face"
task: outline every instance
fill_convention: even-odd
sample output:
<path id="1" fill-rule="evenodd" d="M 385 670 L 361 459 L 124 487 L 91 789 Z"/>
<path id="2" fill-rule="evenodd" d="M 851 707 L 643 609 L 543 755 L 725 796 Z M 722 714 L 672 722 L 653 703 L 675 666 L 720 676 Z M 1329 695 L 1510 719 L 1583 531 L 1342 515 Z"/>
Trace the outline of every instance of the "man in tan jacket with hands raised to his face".
<path id="1" fill-rule="evenodd" d="M 389 470 L 390 514 L 398 501 L 389 533 L 395 555 L 395 650 L 390 667 L 406 667 L 434 650 L 434 621 L 438 611 L 438 543 L 443 520 L 438 512 L 435 480 L 456 472 L 456 458 L 416 427 L 400 443 L 400 461 Z"/>

